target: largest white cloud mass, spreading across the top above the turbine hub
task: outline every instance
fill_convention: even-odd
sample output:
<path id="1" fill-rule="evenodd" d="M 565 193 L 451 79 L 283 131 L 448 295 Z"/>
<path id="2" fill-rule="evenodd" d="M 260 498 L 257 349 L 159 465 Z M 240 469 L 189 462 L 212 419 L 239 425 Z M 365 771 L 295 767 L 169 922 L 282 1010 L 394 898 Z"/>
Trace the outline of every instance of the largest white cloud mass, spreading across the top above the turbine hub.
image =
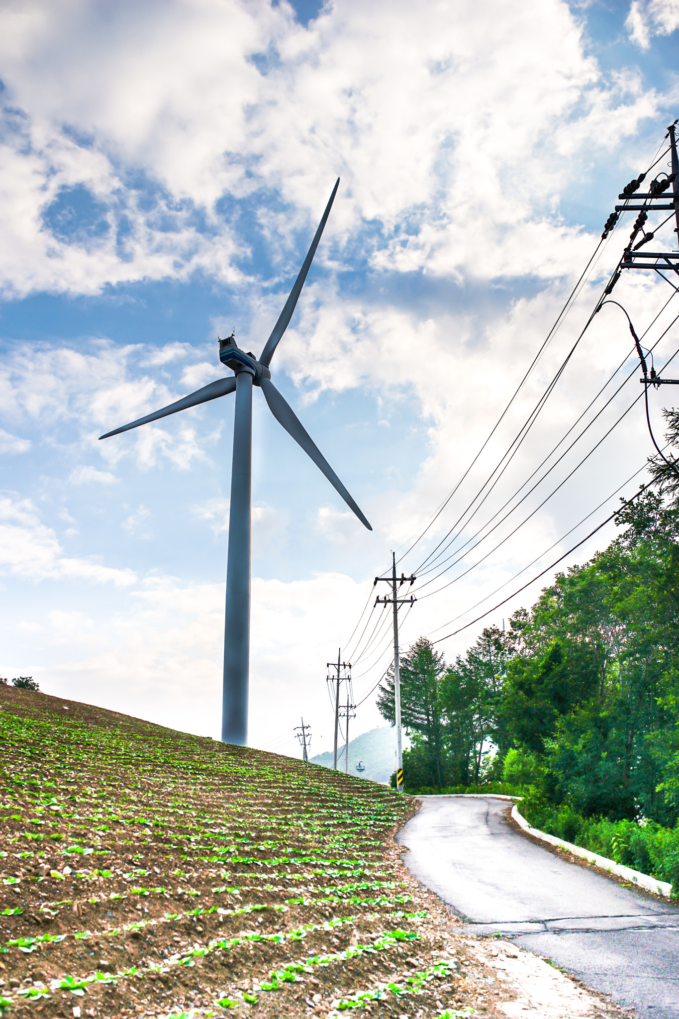
<path id="1" fill-rule="evenodd" d="M 554 215 L 576 160 L 608 156 L 658 106 L 632 74 L 603 77 L 560 0 L 494 0 L 483 18 L 468 4 L 422 16 L 405 0 L 342 0 L 306 30 L 265 0 L 125 0 L 105 31 L 97 5 L 23 7 L 0 12 L 3 81 L 21 111 L 0 168 L 9 292 L 194 271 L 247 288 L 253 237 L 225 220 L 223 197 L 261 224 L 287 276 L 291 238 L 337 173 L 320 259 L 561 275 L 586 244 Z M 652 0 L 638 16 L 671 31 L 675 7 Z M 272 210 L 272 192 L 287 208 Z"/>

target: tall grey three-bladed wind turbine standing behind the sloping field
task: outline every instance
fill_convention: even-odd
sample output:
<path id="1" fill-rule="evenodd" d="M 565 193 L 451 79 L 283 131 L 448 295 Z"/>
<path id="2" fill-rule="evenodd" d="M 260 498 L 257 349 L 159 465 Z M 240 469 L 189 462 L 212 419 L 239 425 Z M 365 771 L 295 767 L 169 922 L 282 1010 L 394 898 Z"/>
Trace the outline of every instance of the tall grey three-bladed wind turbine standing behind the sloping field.
<path id="1" fill-rule="evenodd" d="M 247 743 L 247 687 L 249 680 L 249 600 L 250 600 L 250 491 L 252 467 L 252 386 L 259 386 L 276 420 L 298 442 L 305 453 L 325 474 L 361 524 L 373 528 L 337 477 L 319 447 L 297 419 L 292 408 L 271 381 L 269 365 L 278 343 L 288 327 L 295 305 L 306 279 L 306 273 L 319 247 L 339 186 L 339 177 L 319 223 L 312 247 L 306 253 L 290 296 L 278 322 L 265 343 L 258 361 L 249 351 L 241 351 L 233 335 L 219 340 L 219 360 L 233 375 L 217 379 L 181 399 L 147 414 L 129 425 L 115 428 L 100 438 L 138 428 L 158 421 L 168 414 L 185 411 L 210 399 L 235 392 L 236 407 L 233 426 L 233 461 L 231 467 L 231 505 L 229 511 L 229 544 L 226 568 L 226 620 L 224 627 L 224 687 L 222 695 L 222 741 L 245 746 Z"/>

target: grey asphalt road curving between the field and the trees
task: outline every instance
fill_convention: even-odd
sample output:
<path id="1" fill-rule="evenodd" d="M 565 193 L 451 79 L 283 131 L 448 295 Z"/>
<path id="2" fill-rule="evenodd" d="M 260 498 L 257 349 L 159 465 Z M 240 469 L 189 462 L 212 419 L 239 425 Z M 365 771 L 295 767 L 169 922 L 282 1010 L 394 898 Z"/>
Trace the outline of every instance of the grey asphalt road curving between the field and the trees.
<path id="1" fill-rule="evenodd" d="M 469 932 L 500 932 L 642 1017 L 679 1019 L 679 908 L 536 846 L 508 806 L 425 799 L 397 837 L 406 866 Z"/>

